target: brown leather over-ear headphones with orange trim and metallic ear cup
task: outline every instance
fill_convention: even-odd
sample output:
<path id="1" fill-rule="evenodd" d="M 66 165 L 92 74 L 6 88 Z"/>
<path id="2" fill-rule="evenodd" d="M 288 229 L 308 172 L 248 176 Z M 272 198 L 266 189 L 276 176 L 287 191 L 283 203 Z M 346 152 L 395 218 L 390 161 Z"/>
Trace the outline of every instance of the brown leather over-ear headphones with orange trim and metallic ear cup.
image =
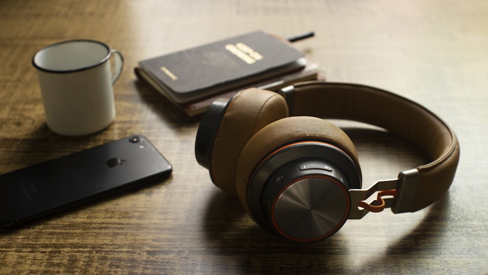
<path id="1" fill-rule="evenodd" d="M 352 141 L 324 118 L 383 127 L 432 162 L 361 190 Z M 427 207 L 451 185 L 459 153 L 454 132 L 425 107 L 378 88 L 321 81 L 279 93 L 250 88 L 217 100 L 195 143 L 197 161 L 216 186 L 239 198 L 259 225 L 295 241 L 328 237 L 367 212 Z M 377 199 L 366 203 L 376 191 Z"/>

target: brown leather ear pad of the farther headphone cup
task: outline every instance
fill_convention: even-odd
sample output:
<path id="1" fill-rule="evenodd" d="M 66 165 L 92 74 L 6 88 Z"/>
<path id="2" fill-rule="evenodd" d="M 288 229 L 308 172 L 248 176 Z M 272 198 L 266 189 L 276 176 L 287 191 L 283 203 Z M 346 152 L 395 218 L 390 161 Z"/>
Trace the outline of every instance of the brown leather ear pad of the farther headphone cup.
<path id="1" fill-rule="evenodd" d="M 216 186 L 237 198 L 237 160 L 247 141 L 261 128 L 288 116 L 285 99 L 277 93 L 250 88 L 227 107 L 212 151 L 211 175 Z"/>

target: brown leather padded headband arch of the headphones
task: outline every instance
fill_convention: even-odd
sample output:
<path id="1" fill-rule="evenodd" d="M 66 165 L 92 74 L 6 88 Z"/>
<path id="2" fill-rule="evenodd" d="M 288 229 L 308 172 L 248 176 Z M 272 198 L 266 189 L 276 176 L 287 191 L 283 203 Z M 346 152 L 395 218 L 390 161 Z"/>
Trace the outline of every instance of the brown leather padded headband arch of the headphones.
<path id="1" fill-rule="evenodd" d="M 460 154 L 456 135 L 435 114 L 399 95 L 365 85 L 300 83 L 290 115 L 368 123 L 424 150 L 432 162 L 417 168 L 420 178 L 410 212 L 438 200 L 452 183 Z"/>

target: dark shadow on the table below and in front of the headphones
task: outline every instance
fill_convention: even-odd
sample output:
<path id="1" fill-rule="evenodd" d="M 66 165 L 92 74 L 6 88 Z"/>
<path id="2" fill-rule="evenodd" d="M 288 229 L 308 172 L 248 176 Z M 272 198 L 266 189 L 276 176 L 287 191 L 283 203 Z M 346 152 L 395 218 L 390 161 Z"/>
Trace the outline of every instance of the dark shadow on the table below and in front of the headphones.
<path id="1" fill-rule="evenodd" d="M 292 242 L 265 231 L 250 219 L 239 201 L 216 192 L 203 217 L 205 246 L 212 258 L 207 262 L 212 265 L 208 268 L 229 274 L 391 271 L 402 260 L 435 253 L 439 247 L 437 237 L 446 226 L 448 205 L 449 196 L 445 195 L 427 210 L 413 230 L 385 248 L 386 255 L 382 251 L 358 267 L 352 259 L 354 244 L 341 231 L 318 242 Z"/>

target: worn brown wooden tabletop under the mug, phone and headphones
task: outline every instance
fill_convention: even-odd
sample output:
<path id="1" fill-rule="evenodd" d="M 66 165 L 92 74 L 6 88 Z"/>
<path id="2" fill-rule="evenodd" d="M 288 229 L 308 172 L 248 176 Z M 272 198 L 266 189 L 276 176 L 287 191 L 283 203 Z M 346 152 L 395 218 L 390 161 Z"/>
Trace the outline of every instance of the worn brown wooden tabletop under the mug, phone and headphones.
<path id="1" fill-rule="evenodd" d="M 1 0 L 0 26 L 0 173 L 132 133 L 174 167 L 160 184 L 1 231 L 0 274 L 488 273 L 486 1 Z M 448 193 L 419 212 L 348 221 L 311 244 L 256 226 L 195 161 L 198 123 L 175 119 L 132 71 L 141 59 L 256 29 L 313 30 L 296 45 L 328 80 L 394 91 L 447 121 L 461 143 Z M 107 42 L 125 66 L 115 122 L 67 138 L 45 125 L 31 58 L 75 38 Z M 426 161 L 394 136 L 339 123 L 358 148 L 365 186 Z"/>

